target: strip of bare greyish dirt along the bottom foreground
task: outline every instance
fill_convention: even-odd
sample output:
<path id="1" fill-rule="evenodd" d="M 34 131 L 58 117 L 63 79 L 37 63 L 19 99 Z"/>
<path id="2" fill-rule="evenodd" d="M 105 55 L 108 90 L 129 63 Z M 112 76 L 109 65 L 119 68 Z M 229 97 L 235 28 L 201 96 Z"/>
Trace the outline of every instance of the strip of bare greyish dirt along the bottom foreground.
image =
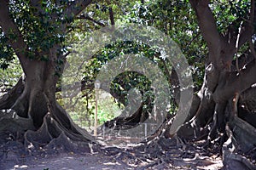
<path id="1" fill-rule="evenodd" d="M 84 170 L 84 169 L 220 169 L 222 167 L 221 160 L 214 161 L 200 157 L 195 159 L 185 159 L 176 161 L 173 165 L 165 165 L 158 167 L 156 163 L 152 167 L 147 167 L 149 162 L 135 165 L 132 162 L 118 161 L 111 156 L 102 154 L 84 154 L 76 155 L 73 153 L 61 154 L 58 156 L 45 156 L 40 158 L 23 158 L 9 160 L 2 163 L 0 169 L 31 169 L 31 170 Z"/>

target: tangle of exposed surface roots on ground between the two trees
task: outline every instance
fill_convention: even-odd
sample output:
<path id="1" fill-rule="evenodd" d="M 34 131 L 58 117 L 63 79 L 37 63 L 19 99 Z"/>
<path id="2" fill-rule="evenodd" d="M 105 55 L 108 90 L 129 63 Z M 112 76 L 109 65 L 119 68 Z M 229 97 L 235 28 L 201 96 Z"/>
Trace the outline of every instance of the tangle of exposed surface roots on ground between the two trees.
<path id="1" fill-rule="evenodd" d="M 137 144 L 132 148 L 102 148 L 108 156 L 119 163 L 135 169 L 199 169 L 208 166 L 222 167 L 220 157 L 207 156 L 195 144 L 180 144 L 178 139 L 156 138 L 147 144 Z"/>

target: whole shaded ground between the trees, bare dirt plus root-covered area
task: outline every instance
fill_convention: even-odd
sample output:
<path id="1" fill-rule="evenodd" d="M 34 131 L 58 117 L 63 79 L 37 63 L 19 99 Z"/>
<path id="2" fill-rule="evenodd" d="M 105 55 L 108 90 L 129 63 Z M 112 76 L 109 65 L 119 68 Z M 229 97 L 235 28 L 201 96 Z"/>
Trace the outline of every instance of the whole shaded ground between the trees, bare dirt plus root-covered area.
<path id="1" fill-rule="evenodd" d="M 162 139 L 133 147 L 102 146 L 100 152 L 74 154 L 62 152 L 38 156 L 17 156 L 9 151 L 0 169 L 220 169 L 221 158 L 195 146 Z M 208 156 L 207 156 L 208 155 Z M 3 161 L 4 160 L 4 161 Z"/>

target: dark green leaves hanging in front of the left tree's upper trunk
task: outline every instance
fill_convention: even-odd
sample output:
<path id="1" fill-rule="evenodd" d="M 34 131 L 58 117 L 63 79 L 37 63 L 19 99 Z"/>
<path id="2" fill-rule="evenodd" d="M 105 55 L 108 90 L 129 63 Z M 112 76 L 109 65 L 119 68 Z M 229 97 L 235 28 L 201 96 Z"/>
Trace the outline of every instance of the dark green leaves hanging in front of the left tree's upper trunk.
<path id="1" fill-rule="evenodd" d="M 31 59 L 48 60 L 49 48 L 65 41 L 65 30 L 61 30 L 61 24 L 69 23 L 73 17 L 63 14 L 63 9 L 68 2 L 55 5 L 51 1 L 41 1 L 42 8 L 33 7 L 31 1 L 10 1 L 9 11 L 11 18 L 18 26 L 21 36 L 26 42 L 27 48 L 23 53 Z M 53 17 L 54 16 L 54 17 Z M 0 65 L 6 68 L 10 60 L 14 59 L 14 51 L 10 49 L 9 41 L 17 41 L 17 34 L 9 30 L 9 38 L 6 38 L 0 30 Z M 61 49 L 63 50 L 63 49 Z M 44 52 L 44 54 L 42 54 Z M 59 52 L 60 54 L 63 51 Z"/>

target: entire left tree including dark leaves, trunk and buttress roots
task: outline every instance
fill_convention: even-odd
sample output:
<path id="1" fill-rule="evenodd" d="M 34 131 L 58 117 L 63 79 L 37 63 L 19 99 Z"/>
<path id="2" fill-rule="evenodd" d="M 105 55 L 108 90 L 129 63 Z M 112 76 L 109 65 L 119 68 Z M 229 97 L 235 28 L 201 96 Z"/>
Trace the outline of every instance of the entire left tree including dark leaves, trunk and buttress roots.
<path id="1" fill-rule="evenodd" d="M 5 110 L 1 113 L 3 139 L 10 132 L 15 139 L 36 148 L 50 145 L 53 140 L 53 145 L 64 144 L 67 150 L 78 143 L 83 148 L 83 144 L 93 140 L 73 123 L 55 99 L 56 83 L 68 54 L 63 42 L 73 19 L 90 3 L 0 2 L 2 65 L 8 65 L 16 55 L 25 74 L 25 79 L 20 78 L 0 101 L 0 109 Z M 84 149 L 88 149 L 86 144 Z"/>

